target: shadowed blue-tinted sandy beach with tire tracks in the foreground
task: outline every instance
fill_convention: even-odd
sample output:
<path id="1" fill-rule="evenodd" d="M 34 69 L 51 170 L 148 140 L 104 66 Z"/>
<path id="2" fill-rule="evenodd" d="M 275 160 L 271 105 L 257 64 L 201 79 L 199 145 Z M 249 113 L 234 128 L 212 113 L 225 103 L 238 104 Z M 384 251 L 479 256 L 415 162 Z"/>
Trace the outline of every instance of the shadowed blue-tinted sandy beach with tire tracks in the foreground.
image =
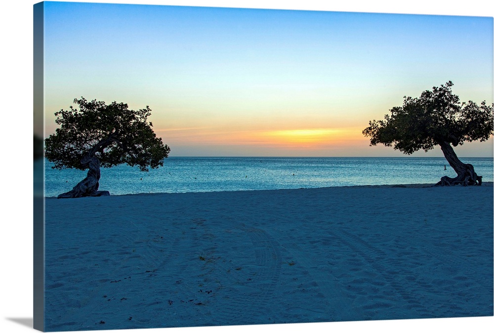
<path id="1" fill-rule="evenodd" d="M 493 184 L 47 199 L 46 330 L 493 315 Z"/>

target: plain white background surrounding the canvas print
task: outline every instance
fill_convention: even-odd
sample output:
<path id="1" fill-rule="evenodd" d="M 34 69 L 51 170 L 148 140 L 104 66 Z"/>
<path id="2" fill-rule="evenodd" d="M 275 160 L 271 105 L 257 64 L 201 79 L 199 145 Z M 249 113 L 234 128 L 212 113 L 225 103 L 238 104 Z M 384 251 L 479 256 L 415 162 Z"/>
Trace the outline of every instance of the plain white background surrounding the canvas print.
<path id="1" fill-rule="evenodd" d="M 33 4 L 37 1 L 7 0 L 0 10 L 1 59 L 1 332 L 32 331 L 33 318 Z M 486 0 L 357 1 L 331 3 L 323 0 L 101 0 L 114 2 L 216 7 L 331 10 L 382 13 L 468 15 L 493 17 L 494 5 Z M 458 45 L 461 47 L 461 45 Z M 475 50 L 472 50 L 475 52 Z M 241 309 L 239 309 L 241 310 Z M 494 317 L 434 320 L 373 321 L 350 323 L 260 325 L 104 332 L 491 332 Z M 101 331 L 103 332 L 103 331 Z"/>

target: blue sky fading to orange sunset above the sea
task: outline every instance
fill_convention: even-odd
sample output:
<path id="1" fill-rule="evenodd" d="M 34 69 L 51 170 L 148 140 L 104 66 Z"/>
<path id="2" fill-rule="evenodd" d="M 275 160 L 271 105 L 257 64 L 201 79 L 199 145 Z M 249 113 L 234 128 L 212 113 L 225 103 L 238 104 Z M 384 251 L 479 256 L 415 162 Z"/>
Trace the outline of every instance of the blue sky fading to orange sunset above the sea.
<path id="1" fill-rule="evenodd" d="M 84 97 L 149 105 L 170 156 L 405 156 L 362 134 L 404 96 L 493 102 L 492 17 L 45 2 L 44 24 L 45 136 Z"/>

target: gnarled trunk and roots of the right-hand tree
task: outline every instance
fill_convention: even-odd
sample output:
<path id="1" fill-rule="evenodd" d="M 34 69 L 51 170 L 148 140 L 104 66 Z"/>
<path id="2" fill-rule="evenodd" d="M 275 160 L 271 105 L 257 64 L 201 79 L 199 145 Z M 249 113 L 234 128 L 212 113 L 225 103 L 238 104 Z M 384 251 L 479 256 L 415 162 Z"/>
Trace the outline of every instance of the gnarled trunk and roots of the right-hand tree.
<path id="1" fill-rule="evenodd" d="M 468 185 L 482 185 L 482 176 L 477 175 L 471 164 L 465 164 L 461 162 L 454 153 L 453 147 L 449 142 L 443 142 L 440 144 L 444 157 L 448 161 L 451 167 L 453 167 L 457 176 L 454 178 L 444 176 L 441 177 L 436 186 L 450 186 L 461 184 L 463 186 Z"/>

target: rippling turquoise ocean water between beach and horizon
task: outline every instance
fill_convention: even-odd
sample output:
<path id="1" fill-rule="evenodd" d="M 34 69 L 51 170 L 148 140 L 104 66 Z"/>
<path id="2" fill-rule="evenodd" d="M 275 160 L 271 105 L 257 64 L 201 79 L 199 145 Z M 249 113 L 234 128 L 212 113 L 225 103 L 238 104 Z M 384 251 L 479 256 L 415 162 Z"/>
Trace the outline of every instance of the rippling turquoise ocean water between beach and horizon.
<path id="1" fill-rule="evenodd" d="M 460 159 L 472 164 L 483 181 L 493 181 L 492 158 Z M 86 171 L 51 166 L 44 161 L 45 197 L 70 191 L 86 176 Z M 43 161 L 35 167 L 42 168 Z M 456 174 L 439 157 L 169 157 L 163 167 L 148 172 L 124 165 L 102 168 L 99 189 L 124 195 L 433 184 L 444 175 Z"/>

